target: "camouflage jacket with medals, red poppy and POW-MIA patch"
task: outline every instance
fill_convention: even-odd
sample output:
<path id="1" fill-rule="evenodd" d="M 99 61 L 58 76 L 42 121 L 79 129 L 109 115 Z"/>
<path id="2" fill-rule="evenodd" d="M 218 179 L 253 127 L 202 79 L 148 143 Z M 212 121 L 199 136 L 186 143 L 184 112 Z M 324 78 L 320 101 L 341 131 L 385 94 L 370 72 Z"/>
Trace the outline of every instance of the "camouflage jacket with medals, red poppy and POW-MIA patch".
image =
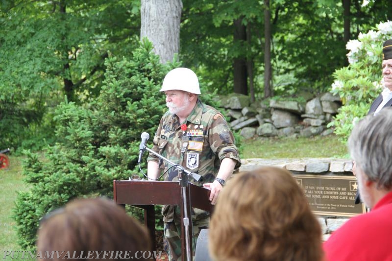
<path id="1" fill-rule="evenodd" d="M 175 164 L 184 166 L 204 177 L 203 183 L 213 182 L 221 165 L 221 160 L 231 158 L 241 166 L 240 155 L 230 128 L 221 113 L 199 99 L 188 116 L 186 130 L 176 115 L 166 112 L 155 133 L 152 150 L 168 158 Z M 185 126 L 183 126 L 185 127 Z M 167 171 L 165 181 L 177 181 L 178 169 L 149 154 L 147 161 L 155 161 L 159 169 Z M 192 183 L 201 186 L 194 180 Z M 165 215 L 165 214 L 164 214 Z M 169 221 L 171 221 L 169 218 Z"/>

